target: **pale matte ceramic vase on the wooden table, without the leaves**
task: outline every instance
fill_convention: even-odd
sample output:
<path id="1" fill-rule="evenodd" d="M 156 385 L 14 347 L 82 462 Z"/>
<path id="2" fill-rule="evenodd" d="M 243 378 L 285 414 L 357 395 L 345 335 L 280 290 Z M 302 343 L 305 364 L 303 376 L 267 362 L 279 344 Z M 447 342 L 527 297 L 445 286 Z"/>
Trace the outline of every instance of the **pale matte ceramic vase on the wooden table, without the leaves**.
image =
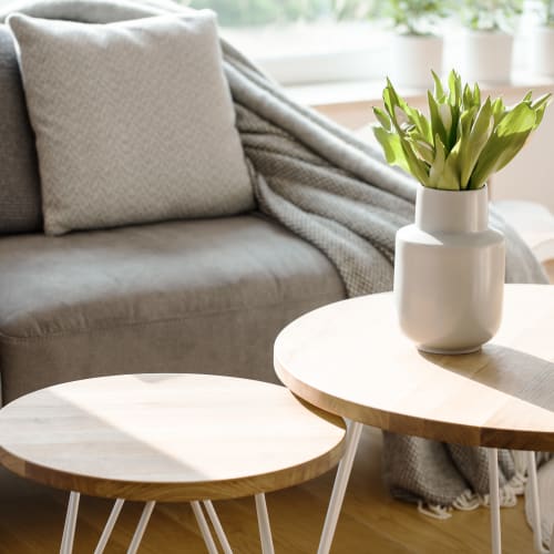
<path id="1" fill-rule="evenodd" d="M 419 186 L 416 223 L 397 233 L 394 301 L 402 331 L 420 350 L 471 352 L 497 331 L 504 237 L 489 227 L 486 187 Z"/>

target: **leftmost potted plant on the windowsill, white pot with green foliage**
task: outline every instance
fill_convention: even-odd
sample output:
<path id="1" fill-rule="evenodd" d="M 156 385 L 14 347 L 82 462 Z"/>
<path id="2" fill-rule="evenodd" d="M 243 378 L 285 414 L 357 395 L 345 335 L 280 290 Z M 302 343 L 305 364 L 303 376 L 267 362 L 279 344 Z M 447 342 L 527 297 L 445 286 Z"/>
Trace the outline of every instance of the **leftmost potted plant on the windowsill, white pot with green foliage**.
<path id="1" fill-rule="evenodd" d="M 447 0 L 388 0 L 382 14 L 392 20 L 389 75 L 401 86 L 427 89 L 430 70 L 441 73 L 443 39 L 439 21 L 448 16 Z"/>

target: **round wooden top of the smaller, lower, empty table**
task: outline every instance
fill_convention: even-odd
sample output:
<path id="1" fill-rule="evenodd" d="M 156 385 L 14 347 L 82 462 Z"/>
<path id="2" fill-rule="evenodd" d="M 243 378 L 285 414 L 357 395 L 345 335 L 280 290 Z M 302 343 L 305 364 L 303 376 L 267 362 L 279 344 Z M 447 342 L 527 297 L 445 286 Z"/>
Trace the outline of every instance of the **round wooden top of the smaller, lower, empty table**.
<path id="1" fill-rule="evenodd" d="M 232 377 L 74 381 L 0 410 L 0 461 L 84 494 L 182 502 L 290 486 L 335 466 L 340 418 L 285 387 Z"/>

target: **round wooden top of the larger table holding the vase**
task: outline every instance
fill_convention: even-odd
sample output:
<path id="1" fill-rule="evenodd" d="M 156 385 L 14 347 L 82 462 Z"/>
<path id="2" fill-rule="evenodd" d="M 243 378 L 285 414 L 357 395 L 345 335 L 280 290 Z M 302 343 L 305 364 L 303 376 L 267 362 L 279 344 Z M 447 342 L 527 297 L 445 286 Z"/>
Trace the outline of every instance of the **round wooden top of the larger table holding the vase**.
<path id="1" fill-rule="evenodd" d="M 481 351 L 420 352 L 392 294 L 336 302 L 275 342 L 280 380 L 308 402 L 384 430 L 459 444 L 554 451 L 554 287 L 507 285 Z"/>

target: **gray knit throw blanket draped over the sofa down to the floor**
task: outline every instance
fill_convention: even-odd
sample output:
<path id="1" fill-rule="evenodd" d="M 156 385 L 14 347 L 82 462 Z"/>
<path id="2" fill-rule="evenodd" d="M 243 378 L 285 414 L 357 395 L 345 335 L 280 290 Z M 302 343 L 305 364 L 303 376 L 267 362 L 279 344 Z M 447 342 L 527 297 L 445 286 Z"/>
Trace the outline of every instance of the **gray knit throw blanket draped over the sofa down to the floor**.
<path id="1" fill-rule="evenodd" d="M 166 0 L 23 0 L 3 7 L 0 18 L 21 11 L 107 23 L 179 10 L 186 8 Z M 230 44 L 222 41 L 222 50 L 259 211 L 322 250 L 349 296 L 390 290 L 394 234 L 413 220 L 414 182 L 389 167 L 371 145 L 293 102 Z M 545 283 L 521 238 L 494 211 L 491 217 L 506 237 L 506 280 Z M 472 506 L 489 492 L 482 449 L 384 433 L 383 452 L 397 497 L 423 501 L 440 513 L 438 506 Z M 510 504 L 514 456 L 499 454 L 504 504 Z"/>

